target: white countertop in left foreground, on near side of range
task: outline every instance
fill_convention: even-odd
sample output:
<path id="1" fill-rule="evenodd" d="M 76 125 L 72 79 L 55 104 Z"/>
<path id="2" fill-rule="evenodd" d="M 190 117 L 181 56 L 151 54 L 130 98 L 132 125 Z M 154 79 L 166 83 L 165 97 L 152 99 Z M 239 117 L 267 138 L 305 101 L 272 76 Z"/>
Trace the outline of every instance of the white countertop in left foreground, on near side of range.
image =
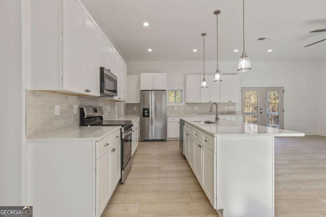
<path id="1" fill-rule="evenodd" d="M 28 142 L 45 142 L 45 141 L 99 141 L 106 136 L 121 129 L 120 126 L 92 126 L 76 127 L 66 131 L 50 133 L 39 137 L 27 139 Z"/>

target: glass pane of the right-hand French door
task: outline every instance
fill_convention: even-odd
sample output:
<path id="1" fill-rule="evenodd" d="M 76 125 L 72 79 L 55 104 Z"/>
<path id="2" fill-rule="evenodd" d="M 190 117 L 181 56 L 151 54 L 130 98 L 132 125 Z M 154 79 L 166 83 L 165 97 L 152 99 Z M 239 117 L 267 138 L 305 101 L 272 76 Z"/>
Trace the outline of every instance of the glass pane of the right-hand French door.
<path id="1" fill-rule="evenodd" d="M 268 127 L 280 127 L 279 110 L 280 110 L 280 92 L 278 90 L 267 91 L 267 126 Z"/>

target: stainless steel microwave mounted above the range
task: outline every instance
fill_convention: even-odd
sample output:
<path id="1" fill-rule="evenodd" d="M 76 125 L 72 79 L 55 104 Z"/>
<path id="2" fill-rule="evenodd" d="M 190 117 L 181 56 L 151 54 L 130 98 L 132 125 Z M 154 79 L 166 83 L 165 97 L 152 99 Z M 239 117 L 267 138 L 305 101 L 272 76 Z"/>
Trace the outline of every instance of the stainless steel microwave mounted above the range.
<path id="1" fill-rule="evenodd" d="M 118 96 L 117 76 L 104 67 L 100 67 L 100 92 L 101 96 Z"/>

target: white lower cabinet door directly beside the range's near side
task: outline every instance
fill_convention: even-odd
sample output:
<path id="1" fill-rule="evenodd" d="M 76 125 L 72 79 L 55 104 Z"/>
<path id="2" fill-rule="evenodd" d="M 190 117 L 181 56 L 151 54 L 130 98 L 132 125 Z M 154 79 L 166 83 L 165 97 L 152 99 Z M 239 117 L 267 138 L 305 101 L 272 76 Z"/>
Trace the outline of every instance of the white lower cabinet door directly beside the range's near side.
<path id="1" fill-rule="evenodd" d="M 111 148 L 111 190 L 115 190 L 120 178 L 121 178 L 121 141 L 118 140 Z"/>

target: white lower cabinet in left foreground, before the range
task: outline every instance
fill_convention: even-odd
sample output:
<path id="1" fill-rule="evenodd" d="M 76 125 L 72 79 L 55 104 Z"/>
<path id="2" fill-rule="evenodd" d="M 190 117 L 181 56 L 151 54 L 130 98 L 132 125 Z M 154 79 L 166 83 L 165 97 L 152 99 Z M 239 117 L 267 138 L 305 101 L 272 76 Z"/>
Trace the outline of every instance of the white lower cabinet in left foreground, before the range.
<path id="1" fill-rule="evenodd" d="M 29 141 L 27 203 L 34 206 L 33 216 L 100 217 L 121 177 L 121 140 L 117 135 L 120 129 L 98 141 Z M 53 207 L 60 209 L 49 211 Z"/>

